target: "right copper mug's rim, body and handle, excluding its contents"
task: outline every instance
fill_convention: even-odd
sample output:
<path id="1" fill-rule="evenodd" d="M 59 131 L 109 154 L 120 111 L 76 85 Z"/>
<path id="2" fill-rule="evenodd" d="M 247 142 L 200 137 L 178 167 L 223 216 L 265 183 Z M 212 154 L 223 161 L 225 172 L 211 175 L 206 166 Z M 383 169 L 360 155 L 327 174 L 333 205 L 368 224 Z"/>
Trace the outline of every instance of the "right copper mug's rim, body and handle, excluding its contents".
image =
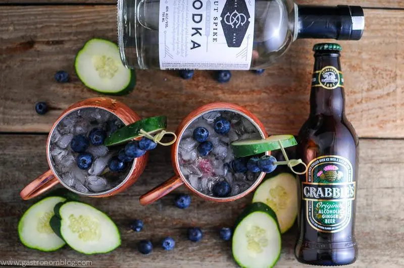
<path id="1" fill-rule="evenodd" d="M 261 181 L 265 177 L 265 173 L 261 173 L 260 176 L 257 178 L 254 184 L 252 184 L 247 190 L 239 193 L 238 195 L 235 196 L 229 196 L 229 197 L 214 197 L 214 196 L 209 196 L 204 193 L 201 193 L 194 189 L 191 184 L 188 182 L 188 180 L 185 178 L 185 176 L 181 173 L 180 170 L 180 164 L 178 160 L 178 147 L 179 143 L 181 141 L 182 135 L 184 134 L 184 131 L 188 128 L 188 126 L 197 118 L 200 116 L 209 113 L 209 112 L 214 112 L 214 111 L 230 111 L 234 112 L 236 114 L 242 115 L 243 117 L 247 118 L 252 124 L 256 126 L 258 129 L 261 137 L 263 139 L 268 137 L 268 134 L 264 128 L 264 125 L 261 123 L 261 121 L 251 112 L 249 112 L 247 109 L 236 105 L 232 103 L 226 103 L 226 102 L 214 102 L 214 103 L 209 103 L 203 106 L 200 106 L 199 108 L 195 109 L 192 111 L 187 117 L 185 117 L 180 125 L 177 128 L 176 134 L 177 134 L 177 140 L 176 142 L 172 145 L 171 148 L 171 161 L 174 167 L 174 172 L 175 176 L 170 178 L 169 180 L 165 181 L 161 185 L 155 187 L 154 189 L 151 189 L 147 193 L 143 194 L 140 196 L 139 201 L 140 204 L 142 205 L 147 205 L 149 203 L 152 203 L 163 196 L 167 195 L 174 189 L 178 188 L 179 186 L 185 184 L 185 186 L 191 190 L 193 193 L 196 195 L 210 201 L 218 201 L 218 202 L 228 202 L 228 201 L 234 201 L 236 199 L 239 199 L 251 191 L 253 191 L 257 186 L 261 183 Z M 268 155 L 270 152 L 266 152 Z"/>

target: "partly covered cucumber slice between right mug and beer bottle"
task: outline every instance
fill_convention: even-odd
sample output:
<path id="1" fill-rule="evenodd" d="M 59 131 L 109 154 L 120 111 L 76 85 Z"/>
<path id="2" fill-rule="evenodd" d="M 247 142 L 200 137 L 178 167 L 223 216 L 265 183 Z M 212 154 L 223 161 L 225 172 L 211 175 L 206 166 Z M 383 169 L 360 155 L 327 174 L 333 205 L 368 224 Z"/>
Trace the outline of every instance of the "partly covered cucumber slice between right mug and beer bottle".
<path id="1" fill-rule="evenodd" d="M 293 226 L 297 217 L 297 185 L 290 173 L 281 173 L 265 180 L 256 190 L 252 202 L 271 207 L 279 222 L 281 233 Z"/>

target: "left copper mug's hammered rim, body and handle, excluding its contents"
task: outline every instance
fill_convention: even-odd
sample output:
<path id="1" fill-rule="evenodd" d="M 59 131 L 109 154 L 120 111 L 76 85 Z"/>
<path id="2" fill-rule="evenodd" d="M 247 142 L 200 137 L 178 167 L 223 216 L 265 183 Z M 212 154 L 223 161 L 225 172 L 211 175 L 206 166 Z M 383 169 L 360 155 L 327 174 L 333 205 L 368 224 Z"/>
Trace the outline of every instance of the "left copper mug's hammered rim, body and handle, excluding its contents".
<path id="1" fill-rule="evenodd" d="M 47 142 L 46 142 L 46 158 L 47 162 L 49 165 L 50 170 L 47 172 L 43 173 L 39 177 L 37 177 L 35 180 L 33 180 L 30 184 L 25 186 L 25 188 L 21 191 L 20 195 L 23 199 L 31 199 L 35 196 L 40 195 L 41 193 L 51 189 L 57 184 L 62 184 L 64 187 L 67 189 L 81 194 L 85 196 L 90 196 L 90 197 L 106 197 L 106 196 L 111 196 L 115 195 L 119 192 L 124 191 L 127 189 L 129 186 L 131 186 L 138 178 L 139 176 L 143 173 L 144 168 L 146 167 L 147 163 L 147 158 L 148 158 L 148 153 L 145 155 L 135 158 L 133 160 L 132 167 L 130 168 L 130 171 L 126 178 L 116 187 L 99 192 L 99 193 L 81 193 L 73 189 L 72 187 L 69 187 L 66 185 L 62 179 L 60 178 L 59 174 L 55 171 L 55 168 L 52 163 L 51 159 L 51 154 L 49 153 L 49 148 L 51 147 L 51 137 L 53 132 L 55 131 L 56 127 L 58 126 L 59 122 L 65 118 L 68 114 L 70 114 L 73 111 L 80 110 L 83 108 L 100 108 L 103 110 L 106 110 L 112 114 L 114 114 L 116 117 L 118 117 L 120 120 L 125 125 L 129 125 L 133 122 L 139 121 L 140 117 L 137 115 L 134 111 L 132 111 L 127 105 L 124 103 L 111 99 L 111 98 L 89 98 L 85 99 L 82 101 L 79 101 L 73 105 L 71 105 L 69 108 L 67 108 L 62 115 L 56 120 L 54 125 L 52 126 L 51 131 L 49 132 Z"/>

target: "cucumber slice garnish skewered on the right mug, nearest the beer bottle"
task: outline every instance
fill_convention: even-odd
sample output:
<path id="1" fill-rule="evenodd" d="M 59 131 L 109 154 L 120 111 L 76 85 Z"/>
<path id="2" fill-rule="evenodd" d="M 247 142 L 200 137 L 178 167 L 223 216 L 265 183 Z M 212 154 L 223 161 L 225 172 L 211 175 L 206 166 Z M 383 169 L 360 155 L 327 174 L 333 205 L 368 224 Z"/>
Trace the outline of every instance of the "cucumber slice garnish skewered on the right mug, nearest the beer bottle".
<path id="1" fill-rule="evenodd" d="M 244 157 L 266 151 L 278 150 L 281 148 L 279 141 L 282 143 L 283 148 L 297 144 L 293 135 L 274 135 L 261 140 L 235 141 L 231 144 L 231 147 L 235 157 Z"/>

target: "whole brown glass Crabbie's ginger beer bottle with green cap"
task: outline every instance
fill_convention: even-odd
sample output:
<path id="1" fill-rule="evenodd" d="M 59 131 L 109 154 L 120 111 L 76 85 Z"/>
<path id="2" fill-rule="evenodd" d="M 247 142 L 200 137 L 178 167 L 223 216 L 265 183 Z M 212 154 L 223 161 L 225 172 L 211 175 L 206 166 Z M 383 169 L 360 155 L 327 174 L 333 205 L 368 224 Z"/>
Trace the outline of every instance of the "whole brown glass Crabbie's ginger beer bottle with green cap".
<path id="1" fill-rule="evenodd" d="M 309 119 L 298 135 L 298 157 L 308 171 L 299 176 L 298 261 L 315 265 L 355 262 L 356 180 L 359 140 L 345 117 L 338 44 L 314 46 Z"/>

